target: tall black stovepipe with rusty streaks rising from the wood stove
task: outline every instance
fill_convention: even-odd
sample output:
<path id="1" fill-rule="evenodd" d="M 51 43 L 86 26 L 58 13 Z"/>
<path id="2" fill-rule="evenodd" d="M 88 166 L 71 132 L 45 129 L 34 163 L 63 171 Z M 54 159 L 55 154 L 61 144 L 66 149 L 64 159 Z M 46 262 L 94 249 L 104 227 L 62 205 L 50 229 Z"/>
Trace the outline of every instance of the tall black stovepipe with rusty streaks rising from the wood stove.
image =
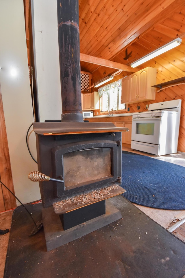
<path id="1" fill-rule="evenodd" d="M 62 122 L 83 122 L 78 0 L 57 0 Z"/>

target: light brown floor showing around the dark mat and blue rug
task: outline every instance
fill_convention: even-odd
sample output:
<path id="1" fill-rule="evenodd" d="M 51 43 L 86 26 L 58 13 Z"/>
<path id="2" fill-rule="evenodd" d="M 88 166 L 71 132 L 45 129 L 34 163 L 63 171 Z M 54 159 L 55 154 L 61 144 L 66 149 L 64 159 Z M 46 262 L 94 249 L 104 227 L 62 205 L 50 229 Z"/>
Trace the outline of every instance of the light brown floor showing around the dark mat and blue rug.
<path id="1" fill-rule="evenodd" d="M 160 156 L 156 157 L 154 155 L 143 153 L 140 151 L 134 151 L 132 149 L 129 149 L 128 147 L 123 148 L 125 151 L 131 151 L 136 152 L 142 155 L 147 155 L 156 159 L 161 159 L 164 161 L 169 161 L 175 164 L 180 164 L 181 166 L 185 167 L 185 153 L 177 153 L 175 155 L 168 155 L 168 156 Z M 173 158 L 175 157 L 175 160 L 173 161 Z M 179 158 L 179 159 L 178 159 Z M 166 211 L 166 210 L 160 210 L 160 209 L 151 209 L 144 206 L 138 206 L 136 205 L 141 211 L 143 211 L 145 214 L 147 214 L 151 219 L 153 219 L 155 222 L 163 226 L 164 228 L 168 228 L 168 226 L 171 226 L 173 224 L 173 220 L 175 219 L 175 216 L 181 212 L 185 213 L 185 211 Z M 0 213 L 0 223 L 1 227 L 0 229 L 10 229 L 11 228 L 11 222 L 12 222 L 12 211 L 5 211 Z M 174 223 L 175 224 L 175 223 Z M 172 232 L 176 237 L 178 237 L 180 240 L 182 240 L 185 243 L 185 223 L 182 224 L 180 227 L 178 227 L 175 231 Z M 8 248 L 8 239 L 9 234 L 7 233 L 5 235 L 0 235 L 0 250 L 1 250 L 1 259 L 0 259 L 0 278 L 3 278 L 4 274 L 4 266 L 5 266 L 5 260 L 6 260 L 6 253 Z"/>

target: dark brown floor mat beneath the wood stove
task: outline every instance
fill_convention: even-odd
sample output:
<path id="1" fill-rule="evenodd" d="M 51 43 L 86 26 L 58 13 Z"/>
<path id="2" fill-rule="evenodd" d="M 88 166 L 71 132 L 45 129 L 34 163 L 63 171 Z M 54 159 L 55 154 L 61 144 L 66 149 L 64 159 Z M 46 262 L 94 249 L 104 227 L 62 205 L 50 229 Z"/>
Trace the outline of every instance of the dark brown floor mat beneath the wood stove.
<path id="1" fill-rule="evenodd" d="M 4 278 L 180 278 L 185 244 L 122 196 L 110 198 L 122 219 L 46 251 L 44 230 L 22 206 L 12 218 Z M 27 205 L 36 221 L 42 204 Z"/>

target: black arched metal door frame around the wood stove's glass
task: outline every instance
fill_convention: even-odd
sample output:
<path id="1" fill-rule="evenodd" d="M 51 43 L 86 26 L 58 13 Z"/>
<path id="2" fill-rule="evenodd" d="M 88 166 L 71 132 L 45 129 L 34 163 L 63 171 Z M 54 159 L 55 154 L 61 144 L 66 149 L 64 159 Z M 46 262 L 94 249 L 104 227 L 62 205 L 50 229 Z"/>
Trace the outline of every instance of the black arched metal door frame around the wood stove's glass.
<path id="1" fill-rule="evenodd" d="M 80 186 L 73 185 L 70 188 L 65 187 L 65 176 L 63 167 L 63 155 L 73 151 L 81 151 L 85 149 L 96 149 L 96 148 L 109 148 L 111 150 L 111 175 L 108 177 L 102 177 L 99 180 L 91 182 L 84 182 Z M 55 177 L 64 178 L 64 183 L 53 182 L 53 193 L 55 197 L 61 198 L 84 190 L 91 190 L 94 188 L 102 187 L 103 185 L 109 186 L 116 183 L 118 180 L 118 145 L 115 141 L 110 140 L 87 140 L 82 142 L 75 142 L 65 145 L 53 147 L 51 149 L 52 157 L 52 172 Z"/>

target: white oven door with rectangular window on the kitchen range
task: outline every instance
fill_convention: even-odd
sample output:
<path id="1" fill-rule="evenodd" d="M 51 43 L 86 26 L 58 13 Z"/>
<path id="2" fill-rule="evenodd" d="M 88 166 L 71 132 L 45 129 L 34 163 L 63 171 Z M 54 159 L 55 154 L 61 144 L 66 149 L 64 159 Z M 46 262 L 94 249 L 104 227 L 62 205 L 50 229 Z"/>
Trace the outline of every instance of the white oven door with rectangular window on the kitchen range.
<path id="1" fill-rule="evenodd" d="M 132 140 L 159 145 L 162 117 L 132 118 Z"/>

